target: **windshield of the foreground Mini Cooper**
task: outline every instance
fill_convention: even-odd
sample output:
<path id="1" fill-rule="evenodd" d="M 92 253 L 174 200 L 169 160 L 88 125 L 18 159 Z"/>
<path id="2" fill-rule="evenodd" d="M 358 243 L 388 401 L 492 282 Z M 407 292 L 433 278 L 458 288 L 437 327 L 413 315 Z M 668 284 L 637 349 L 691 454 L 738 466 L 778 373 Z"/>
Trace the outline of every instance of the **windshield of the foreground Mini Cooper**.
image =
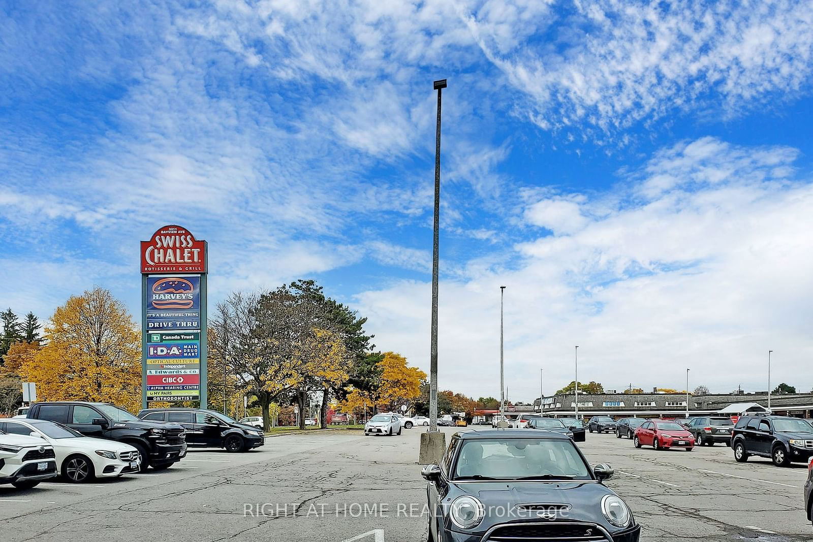
<path id="1" fill-rule="evenodd" d="M 457 480 L 589 480 L 588 466 L 572 440 L 467 440 L 454 467 Z"/>

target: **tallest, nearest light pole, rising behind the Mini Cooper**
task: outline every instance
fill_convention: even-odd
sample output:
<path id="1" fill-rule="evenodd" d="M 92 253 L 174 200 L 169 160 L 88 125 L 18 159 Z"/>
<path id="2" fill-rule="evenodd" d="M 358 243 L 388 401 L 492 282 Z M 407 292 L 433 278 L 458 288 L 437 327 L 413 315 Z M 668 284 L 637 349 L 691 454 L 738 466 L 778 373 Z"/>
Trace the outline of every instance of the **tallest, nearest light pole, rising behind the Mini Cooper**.
<path id="1" fill-rule="evenodd" d="M 435 218 L 432 240 L 432 345 L 429 349 L 429 431 L 437 431 L 437 274 L 440 255 L 441 213 L 441 95 L 446 80 L 434 82 L 437 90 L 437 124 L 435 127 Z"/>

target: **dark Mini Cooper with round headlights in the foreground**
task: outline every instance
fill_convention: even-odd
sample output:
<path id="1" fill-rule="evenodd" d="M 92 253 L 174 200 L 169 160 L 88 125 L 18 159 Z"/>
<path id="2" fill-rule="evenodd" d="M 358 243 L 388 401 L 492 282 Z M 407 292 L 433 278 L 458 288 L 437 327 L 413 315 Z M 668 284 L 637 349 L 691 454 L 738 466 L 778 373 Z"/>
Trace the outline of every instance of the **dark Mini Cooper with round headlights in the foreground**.
<path id="1" fill-rule="evenodd" d="M 573 440 L 553 431 L 456 433 L 428 480 L 429 542 L 637 542 L 641 526 L 590 469 Z"/>

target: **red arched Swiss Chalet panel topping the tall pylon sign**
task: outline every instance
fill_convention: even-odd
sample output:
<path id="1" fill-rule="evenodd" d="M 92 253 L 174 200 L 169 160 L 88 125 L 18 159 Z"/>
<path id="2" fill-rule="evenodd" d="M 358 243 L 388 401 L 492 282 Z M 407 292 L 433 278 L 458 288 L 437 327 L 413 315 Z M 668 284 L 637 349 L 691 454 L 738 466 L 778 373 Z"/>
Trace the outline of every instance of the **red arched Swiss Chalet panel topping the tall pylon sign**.
<path id="1" fill-rule="evenodd" d="M 141 273 L 206 273 L 206 245 L 186 228 L 159 228 L 141 241 Z"/>

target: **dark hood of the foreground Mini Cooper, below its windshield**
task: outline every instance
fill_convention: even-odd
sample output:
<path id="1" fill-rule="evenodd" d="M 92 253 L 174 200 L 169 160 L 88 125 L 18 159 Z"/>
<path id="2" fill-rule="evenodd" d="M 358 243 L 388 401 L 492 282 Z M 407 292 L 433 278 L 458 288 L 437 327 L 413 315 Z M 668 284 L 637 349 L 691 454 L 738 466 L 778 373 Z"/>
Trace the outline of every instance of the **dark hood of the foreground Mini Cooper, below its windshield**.
<path id="1" fill-rule="evenodd" d="M 539 521 L 540 517 L 533 512 L 520 512 L 517 505 L 569 505 L 570 509 L 558 516 L 559 519 L 571 522 L 598 523 L 611 533 L 625 528 L 613 526 L 602 514 L 602 497 L 615 495 L 610 488 L 597 482 L 467 482 L 450 483 L 449 501 L 460 495 L 476 496 L 485 507 L 485 518 L 476 527 L 481 536 L 490 527 L 498 523 L 513 521 Z M 506 513 L 506 510 L 508 512 Z M 448 516 L 448 514 L 446 514 Z M 447 527 L 459 531 L 447 518 Z M 633 523 L 630 524 L 630 526 Z"/>

